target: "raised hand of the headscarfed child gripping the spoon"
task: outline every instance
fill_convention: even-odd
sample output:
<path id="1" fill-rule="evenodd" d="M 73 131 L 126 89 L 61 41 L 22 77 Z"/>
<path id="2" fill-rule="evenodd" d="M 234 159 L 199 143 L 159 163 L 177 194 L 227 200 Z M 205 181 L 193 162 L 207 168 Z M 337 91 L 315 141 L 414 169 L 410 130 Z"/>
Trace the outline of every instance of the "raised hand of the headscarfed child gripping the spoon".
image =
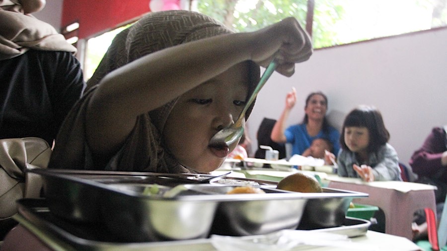
<path id="1" fill-rule="evenodd" d="M 295 64 L 312 55 L 312 42 L 298 20 L 288 17 L 252 33 L 255 37 L 251 59 L 266 67 L 272 59 L 278 63 L 276 71 L 285 76 L 295 73 Z"/>

